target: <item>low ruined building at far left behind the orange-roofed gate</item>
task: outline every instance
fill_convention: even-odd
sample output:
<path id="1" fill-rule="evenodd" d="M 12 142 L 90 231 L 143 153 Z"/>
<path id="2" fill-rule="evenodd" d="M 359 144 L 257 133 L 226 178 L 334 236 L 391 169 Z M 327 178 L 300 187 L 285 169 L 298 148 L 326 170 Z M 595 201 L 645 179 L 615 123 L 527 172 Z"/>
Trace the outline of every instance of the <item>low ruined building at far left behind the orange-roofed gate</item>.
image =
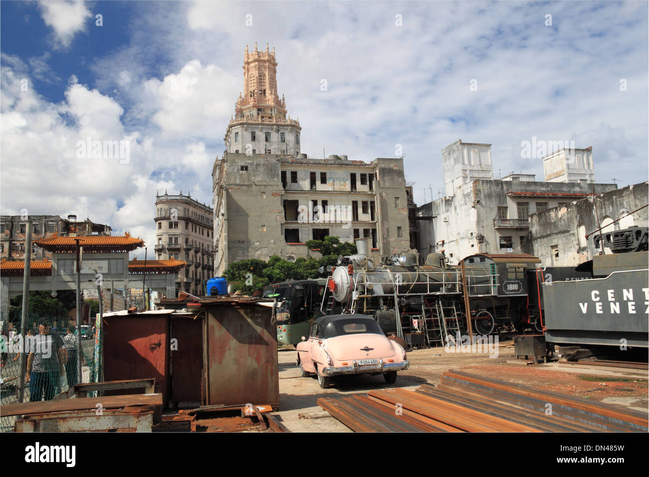
<path id="1" fill-rule="evenodd" d="M 34 241 L 47 239 L 54 235 L 60 237 L 81 237 L 89 235 L 110 236 L 109 225 L 94 223 L 92 220 L 77 220 L 77 215 L 3 215 L 0 217 L 0 258 L 6 260 L 25 260 L 25 232 L 27 224 L 32 224 L 32 260 L 51 259 L 47 252 L 34 245 Z"/>

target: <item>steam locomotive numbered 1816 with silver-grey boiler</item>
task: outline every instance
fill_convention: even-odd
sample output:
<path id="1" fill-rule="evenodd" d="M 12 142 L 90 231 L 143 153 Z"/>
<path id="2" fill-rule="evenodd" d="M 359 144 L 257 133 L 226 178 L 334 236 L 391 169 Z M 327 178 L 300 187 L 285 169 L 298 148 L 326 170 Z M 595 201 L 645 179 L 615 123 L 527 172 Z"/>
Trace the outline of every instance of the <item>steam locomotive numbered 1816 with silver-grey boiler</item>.
<path id="1" fill-rule="evenodd" d="M 530 327 L 542 332 L 547 285 L 593 279 L 587 266 L 541 268 L 529 254 L 475 254 L 458 266 L 431 253 L 418 265 L 416 254 L 374 263 L 368 238 L 356 239 L 356 247 L 357 254 L 339 257 L 332 267 L 321 312 L 371 315 L 411 348 L 443 345 L 448 335 L 465 334 L 468 320 L 481 335 Z"/>

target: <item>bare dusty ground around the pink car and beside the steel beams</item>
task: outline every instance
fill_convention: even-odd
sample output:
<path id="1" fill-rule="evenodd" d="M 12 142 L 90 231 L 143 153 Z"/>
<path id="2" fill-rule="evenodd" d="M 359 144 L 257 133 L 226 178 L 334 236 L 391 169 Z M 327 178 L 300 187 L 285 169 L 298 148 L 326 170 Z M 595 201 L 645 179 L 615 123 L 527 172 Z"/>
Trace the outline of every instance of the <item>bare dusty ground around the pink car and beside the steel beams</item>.
<path id="1" fill-rule="evenodd" d="M 525 361 L 515 360 L 511 340 L 501 341 L 491 349 L 491 354 L 450 350 L 432 348 L 408 352 L 410 369 L 398 373 L 395 384 L 386 384 L 383 376 L 341 376 L 328 389 L 321 389 L 316 378 L 300 377 L 299 367 L 295 365 L 297 351 L 284 347 L 278 350 L 280 409 L 275 415 L 291 432 L 351 432 L 333 417 L 299 419 L 298 414 L 321 413 L 323 410 L 317 405 L 320 397 L 336 398 L 393 387 L 414 390 L 426 382 L 439 384 L 441 374 L 450 369 L 637 410 L 646 411 L 649 404 L 646 371 L 611 373 L 574 370 L 556 363 L 526 365 Z"/>

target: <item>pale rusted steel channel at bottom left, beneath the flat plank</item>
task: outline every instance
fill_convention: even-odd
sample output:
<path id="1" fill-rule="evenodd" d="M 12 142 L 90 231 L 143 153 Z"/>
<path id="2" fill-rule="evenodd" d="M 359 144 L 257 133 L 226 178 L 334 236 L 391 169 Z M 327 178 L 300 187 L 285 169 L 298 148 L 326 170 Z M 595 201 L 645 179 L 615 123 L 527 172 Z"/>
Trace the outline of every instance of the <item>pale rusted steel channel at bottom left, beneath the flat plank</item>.
<path id="1" fill-rule="evenodd" d="M 104 410 L 29 415 L 16 421 L 16 432 L 151 432 L 153 410 L 138 413 Z"/>

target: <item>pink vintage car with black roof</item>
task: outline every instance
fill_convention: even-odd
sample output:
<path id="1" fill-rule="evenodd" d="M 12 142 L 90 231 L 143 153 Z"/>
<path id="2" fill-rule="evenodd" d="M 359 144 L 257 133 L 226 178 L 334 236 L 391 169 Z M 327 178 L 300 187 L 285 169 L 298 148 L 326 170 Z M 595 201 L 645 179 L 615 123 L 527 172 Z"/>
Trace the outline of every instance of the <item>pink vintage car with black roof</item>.
<path id="1" fill-rule="evenodd" d="M 397 371 L 408 369 L 406 350 L 387 339 L 367 315 L 329 315 L 313 321 L 309 337 L 297 345 L 302 377 L 317 374 L 320 387 L 328 387 L 340 374 L 383 374 L 397 380 Z"/>

